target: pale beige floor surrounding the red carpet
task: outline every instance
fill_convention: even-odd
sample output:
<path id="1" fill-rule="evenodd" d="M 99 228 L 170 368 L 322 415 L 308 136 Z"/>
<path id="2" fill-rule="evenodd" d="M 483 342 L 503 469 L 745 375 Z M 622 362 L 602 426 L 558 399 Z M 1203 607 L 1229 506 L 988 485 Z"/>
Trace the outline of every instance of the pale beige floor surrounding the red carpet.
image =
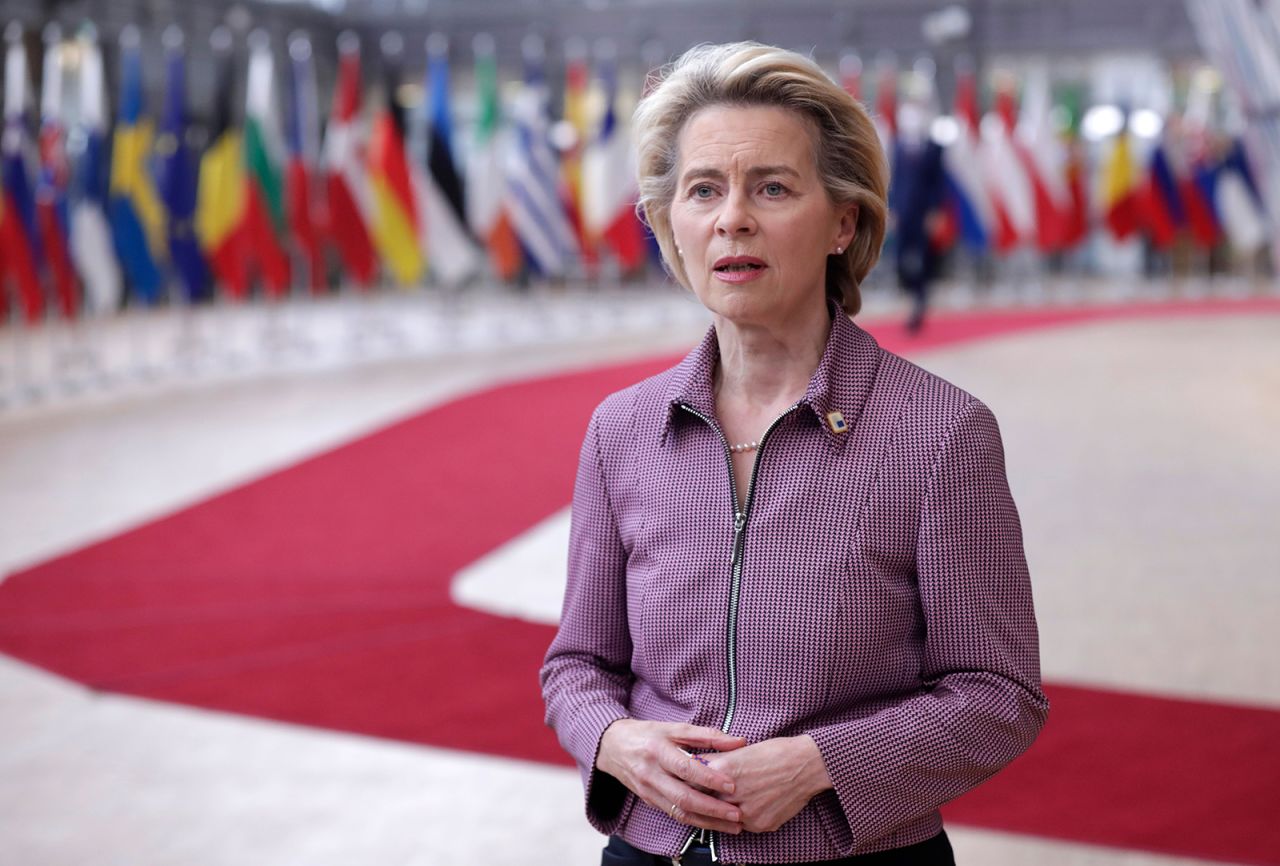
<path id="1" fill-rule="evenodd" d="M 703 327 L 564 310 L 563 330 L 544 322 L 554 339 L 509 327 L 461 354 L 10 408 L 0 576 L 477 385 L 677 350 Z M 1280 705 L 1280 316 L 1100 322 L 916 359 L 1001 421 L 1047 677 Z M 590 863 L 579 796 L 562 768 L 97 695 L 0 657 L 0 863 Z M 954 839 L 961 863 L 1190 862 Z"/>

